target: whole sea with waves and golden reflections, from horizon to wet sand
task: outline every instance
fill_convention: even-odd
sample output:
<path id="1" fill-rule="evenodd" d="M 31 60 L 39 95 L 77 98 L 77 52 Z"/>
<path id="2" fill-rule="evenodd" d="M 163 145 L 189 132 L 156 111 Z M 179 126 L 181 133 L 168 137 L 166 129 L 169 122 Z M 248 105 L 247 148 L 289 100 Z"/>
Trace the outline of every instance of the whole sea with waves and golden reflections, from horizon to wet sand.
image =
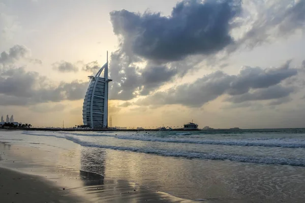
<path id="1" fill-rule="evenodd" d="M 0 131 L 0 142 L 35 149 L 36 153 L 31 156 L 41 156 L 40 163 L 36 160 L 35 164 L 45 164 L 46 168 L 47 163 L 53 163 L 57 168 L 73 168 L 111 180 L 129 181 L 147 190 L 188 200 L 305 201 L 303 128 L 139 132 L 14 130 Z M 17 155 L 7 153 L 6 156 Z M 27 162 L 27 167 L 28 164 L 35 168 L 33 162 Z"/>

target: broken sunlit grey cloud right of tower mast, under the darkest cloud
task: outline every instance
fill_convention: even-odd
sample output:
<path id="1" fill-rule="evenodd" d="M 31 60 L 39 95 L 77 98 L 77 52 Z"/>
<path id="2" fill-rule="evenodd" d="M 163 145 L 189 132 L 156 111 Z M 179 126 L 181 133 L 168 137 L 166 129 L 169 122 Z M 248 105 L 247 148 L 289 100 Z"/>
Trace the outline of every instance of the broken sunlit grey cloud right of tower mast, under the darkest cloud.
<path id="1" fill-rule="evenodd" d="M 109 71 L 113 82 L 110 83 L 110 99 L 129 100 L 137 95 L 147 95 L 178 73 L 175 66 L 148 63 L 140 69 L 130 61 L 130 57 L 120 51 L 111 54 Z"/>

